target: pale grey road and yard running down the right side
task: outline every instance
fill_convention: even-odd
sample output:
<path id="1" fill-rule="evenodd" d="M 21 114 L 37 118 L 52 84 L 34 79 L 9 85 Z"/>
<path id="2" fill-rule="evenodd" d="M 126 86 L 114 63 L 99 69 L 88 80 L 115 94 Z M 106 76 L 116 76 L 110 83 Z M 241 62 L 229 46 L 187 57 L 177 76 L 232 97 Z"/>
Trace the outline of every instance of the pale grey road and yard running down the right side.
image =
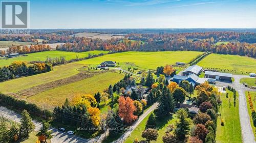
<path id="1" fill-rule="evenodd" d="M 245 91 L 256 91 L 253 89 L 249 89 L 240 83 L 240 79 L 244 77 L 250 77 L 248 75 L 233 75 L 234 82 L 233 83 L 225 83 L 225 82 L 217 82 L 216 85 L 231 85 L 231 87 L 235 88 L 239 94 L 239 117 L 240 124 L 242 129 L 242 137 L 244 143 L 253 143 L 254 135 L 252 132 L 251 124 L 250 124 L 250 115 L 247 110 L 246 96 Z"/>

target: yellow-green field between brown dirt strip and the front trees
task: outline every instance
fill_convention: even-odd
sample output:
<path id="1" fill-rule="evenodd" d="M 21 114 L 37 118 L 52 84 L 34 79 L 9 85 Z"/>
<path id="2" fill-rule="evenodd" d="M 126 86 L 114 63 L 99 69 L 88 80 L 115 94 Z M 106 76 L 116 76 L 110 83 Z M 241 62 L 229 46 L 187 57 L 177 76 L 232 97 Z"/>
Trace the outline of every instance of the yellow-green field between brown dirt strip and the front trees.
<path id="1" fill-rule="evenodd" d="M 123 74 L 116 72 L 106 72 L 96 74 L 93 77 L 86 78 L 77 82 L 51 89 L 35 96 L 28 98 L 29 102 L 41 105 L 46 103 L 49 106 L 61 106 L 66 98 L 71 99 L 75 94 L 91 94 L 97 92 L 102 93 L 104 89 L 109 88 L 110 84 L 114 84 L 123 78 Z"/>

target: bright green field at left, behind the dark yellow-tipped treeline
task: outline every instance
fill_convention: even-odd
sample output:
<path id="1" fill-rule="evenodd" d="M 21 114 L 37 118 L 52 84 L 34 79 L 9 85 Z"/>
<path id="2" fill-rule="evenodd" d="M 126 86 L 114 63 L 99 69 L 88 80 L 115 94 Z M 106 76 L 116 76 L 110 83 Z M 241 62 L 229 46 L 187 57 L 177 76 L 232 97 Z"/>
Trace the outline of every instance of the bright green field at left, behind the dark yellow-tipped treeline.
<path id="1" fill-rule="evenodd" d="M 19 56 L 16 58 L 8 58 L 4 60 L 0 60 L 0 67 L 7 66 L 13 63 L 14 61 L 45 61 L 46 57 L 56 58 L 60 56 L 65 56 L 66 60 L 76 59 L 76 55 L 79 55 L 78 58 L 84 58 L 88 56 L 88 54 L 99 54 L 99 53 L 108 53 L 108 51 L 101 51 L 101 50 L 94 50 L 94 51 L 86 51 L 86 52 L 68 52 L 68 51 L 43 51 L 43 52 L 35 52 L 35 53 L 28 53 L 28 56 Z"/>

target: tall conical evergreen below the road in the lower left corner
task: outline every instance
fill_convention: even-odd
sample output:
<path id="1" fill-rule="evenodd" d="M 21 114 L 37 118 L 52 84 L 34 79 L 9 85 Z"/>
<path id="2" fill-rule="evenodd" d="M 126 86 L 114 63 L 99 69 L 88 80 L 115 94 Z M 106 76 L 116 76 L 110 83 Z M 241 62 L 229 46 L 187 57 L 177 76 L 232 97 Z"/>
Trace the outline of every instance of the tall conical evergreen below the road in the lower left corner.
<path id="1" fill-rule="evenodd" d="M 35 129 L 35 125 L 32 123 L 32 118 L 29 116 L 27 110 L 22 111 L 22 119 L 20 119 L 20 122 L 20 137 L 28 137 L 29 133 L 31 133 Z"/>

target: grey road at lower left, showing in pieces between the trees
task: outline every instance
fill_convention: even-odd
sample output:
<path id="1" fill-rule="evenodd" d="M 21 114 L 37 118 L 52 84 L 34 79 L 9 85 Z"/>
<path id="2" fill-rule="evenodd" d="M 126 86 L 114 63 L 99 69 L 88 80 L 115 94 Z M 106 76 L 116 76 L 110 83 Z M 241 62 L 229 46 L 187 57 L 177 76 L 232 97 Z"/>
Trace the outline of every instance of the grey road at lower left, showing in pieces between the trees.
<path id="1" fill-rule="evenodd" d="M 6 117 L 14 122 L 20 123 L 20 119 L 22 118 L 22 116 L 18 115 L 17 113 L 15 113 L 14 111 L 7 109 L 6 107 L 2 107 L 0 106 L 0 111 L 3 112 Z M 42 124 L 37 122 L 37 121 L 32 121 L 35 125 L 35 131 L 40 130 L 40 128 L 42 127 Z M 95 140 L 102 140 L 102 135 L 92 138 L 92 139 L 84 139 L 84 138 L 80 138 L 77 137 L 75 135 L 69 135 L 66 132 L 62 132 L 59 131 L 58 129 L 55 128 L 50 128 L 50 130 L 53 131 L 52 136 L 53 138 L 51 139 L 52 143 L 61 143 L 61 142 L 71 142 L 71 143 L 82 143 L 82 142 L 95 142 Z"/>

